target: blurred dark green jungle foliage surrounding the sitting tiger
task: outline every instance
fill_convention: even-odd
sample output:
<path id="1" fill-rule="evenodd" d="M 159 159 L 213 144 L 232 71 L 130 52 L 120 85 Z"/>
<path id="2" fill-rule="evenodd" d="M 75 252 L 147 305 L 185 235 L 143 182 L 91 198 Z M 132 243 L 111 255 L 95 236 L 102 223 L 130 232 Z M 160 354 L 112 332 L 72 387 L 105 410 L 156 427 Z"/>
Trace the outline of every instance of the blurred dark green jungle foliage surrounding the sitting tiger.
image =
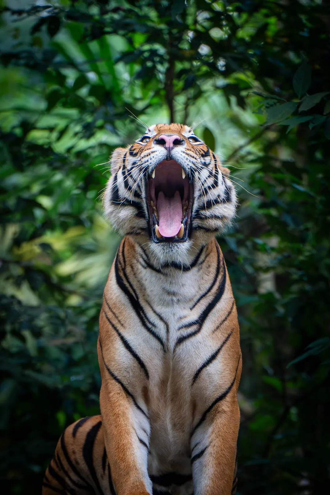
<path id="1" fill-rule="evenodd" d="M 238 493 L 330 493 L 330 2 L 0 7 L 1 492 L 40 494 L 65 426 L 99 412 L 120 242 L 101 196 L 141 119 L 196 125 L 236 184 Z"/>

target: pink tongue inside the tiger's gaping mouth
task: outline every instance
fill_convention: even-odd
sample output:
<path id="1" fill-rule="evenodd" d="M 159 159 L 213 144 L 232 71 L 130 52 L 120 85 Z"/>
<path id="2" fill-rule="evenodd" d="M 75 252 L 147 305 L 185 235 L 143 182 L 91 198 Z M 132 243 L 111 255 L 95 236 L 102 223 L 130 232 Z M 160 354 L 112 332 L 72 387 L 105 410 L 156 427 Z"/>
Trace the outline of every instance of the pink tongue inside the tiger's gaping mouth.
<path id="1" fill-rule="evenodd" d="M 160 191 L 157 198 L 157 211 L 159 218 L 159 233 L 163 237 L 174 237 L 181 228 L 182 202 L 179 191 L 173 198 L 167 198 Z"/>

